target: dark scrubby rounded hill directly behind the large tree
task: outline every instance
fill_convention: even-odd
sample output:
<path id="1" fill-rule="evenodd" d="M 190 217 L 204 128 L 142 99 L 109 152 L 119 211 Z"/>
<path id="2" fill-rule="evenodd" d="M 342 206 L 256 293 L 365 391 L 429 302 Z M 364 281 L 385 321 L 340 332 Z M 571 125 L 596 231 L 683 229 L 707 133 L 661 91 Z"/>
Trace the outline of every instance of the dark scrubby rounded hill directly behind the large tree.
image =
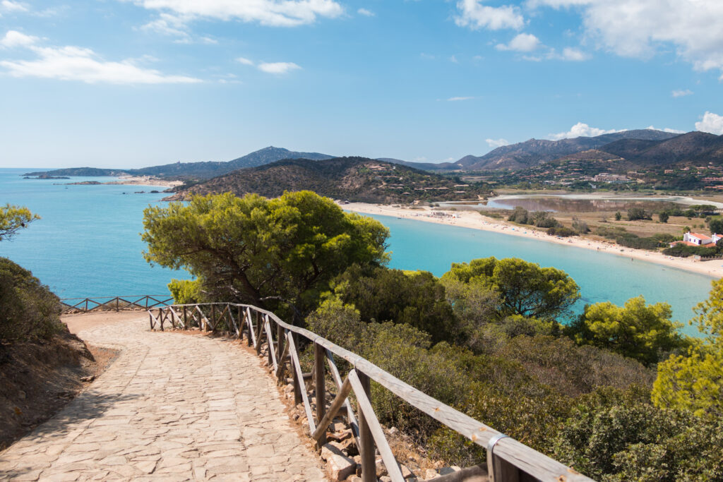
<path id="1" fill-rule="evenodd" d="M 194 186 L 176 188 L 176 194 L 168 200 L 227 191 L 237 196 L 257 193 L 278 197 L 283 191 L 305 189 L 334 199 L 380 203 L 478 199 L 489 193 L 488 189 L 479 186 L 459 184 L 450 178 L 381 160 L 333 158 L 319 162 L 286 159 L 240 169 Z"/>

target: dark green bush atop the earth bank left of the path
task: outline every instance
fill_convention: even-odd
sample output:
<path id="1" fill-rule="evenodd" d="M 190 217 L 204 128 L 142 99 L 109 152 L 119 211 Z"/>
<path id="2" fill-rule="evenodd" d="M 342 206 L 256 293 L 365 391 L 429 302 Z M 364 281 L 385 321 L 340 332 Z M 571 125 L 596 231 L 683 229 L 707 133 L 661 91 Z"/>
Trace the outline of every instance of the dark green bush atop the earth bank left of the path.
<path id="1" fill-rule="evenodd" d="M 65 330 L 60 300 L 28 270 L 0 257 L 0 347 L 48 340 Z"/>

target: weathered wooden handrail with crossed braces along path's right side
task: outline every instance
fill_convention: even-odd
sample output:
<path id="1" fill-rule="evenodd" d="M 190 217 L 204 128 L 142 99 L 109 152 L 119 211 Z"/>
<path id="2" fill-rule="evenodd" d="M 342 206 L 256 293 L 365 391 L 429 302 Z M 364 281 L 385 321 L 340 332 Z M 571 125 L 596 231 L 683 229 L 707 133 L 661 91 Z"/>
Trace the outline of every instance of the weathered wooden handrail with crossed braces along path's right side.
<path id="1" fill-rule="evenodd" d="M 393 460 L 393 455 L 389 449 L 389 445 L 384 438 L 383 431 L 375 413 L 373 412 L 372 405 L 369 403 L 367 389 L 364 388 L 363 379 L 371 379 L 377 384 L 380 384 L 386 390 L 389 390 L 393 394 L 397 395 L 401 400 L 405 401 L 409 405 L 419 409 L 427 416 L 434 418 L 450 429 L 453 429 L 458 434 L 465 436 L 475 444 L 487 449 L 488 455 L 488 467 L 489 480 L 493 482 L 500 481 L 520 481 L 530 480 L 534 478 L 539 481 L 555 481 L 555 482 L 582 482 L 591 481 L 590 478 L 576 472 L 572 468 L 568 468 L 557 460 L 553 460 L 547 455 L 537 452 L 531 447 L 527 447 L 525 444 L 518 442 L 517 440 L 503 436 L 499 431 L 492 429 L 492 427 L 485 425 L 482 422 L 476 421 L 474 418 L 461 413 L 458 410 L 445 405 L 444 403 L 430 397 L 429 395 L 417 390 L 400 379 L 396 378 L 387 371 L 380 369 L 374 363 L 361 358 L 356 353 L 352 353 L 341 346 L 335 345 L 334 343 L 320 337 L 314 332 L 305 330 L 301 327 L 296 327 L 292 324 L 283 322 L 275 314 L 265 309 L 257 308 L 256 306 L 248 304 L 232 304 L 232 303 L 209 303 L 209 304 L 175 304 L 171 306 L 165 306 L 158 309 L 159 313 L 167 311 L 168 313 L 174 313 L 177 309 L 192 308 L 192 312 L 198 311 L 205 321 L 205 324 L 211 327 L 211 330 L 215 330 L 218 326 L 218 319 L 207 319 L 200 306 L 208 306 L 212 308 L 212 318 L 218 311 L 215 308 L 217 306 L 223 306 L 220 317 L 223 314 L 231 314 L 231 308 L 236 307 L 239 313 L 244 312 L 244 320 L 241 322 L 241 326 L 236 327 L 236 336 L 241 338 L 244 332 L 249 340 L 249 345 L 256 348 L 257 353 L 261 353 L 262 341 L 266 342 L 268 347 L 268 357 L 270 369 L 277 375 L 283 376 L 284 365 L 290 363 L 289 370 L 294 376 L 294 392 L 295 400 L 297 403 L 301 402 L 304 405 L 304 411 L 307 416 L 307 423 L 309 424 L 309 434 L 313 435 L 315 439 L 322 439 L 322 435 L 325 437 L 325 430 L 328 429 L 328 423 L 332 420 L 333 415 L 341 408 L 342 405 L 346 406 L 348 413 L 348 421 L 352 429 L 352 434 L 356 442 L 357 447 L 360 449 L 360 453 L 363 452 L 364 447 L 366 448 L 367 457 L 369 452 L 374 453 L 374 449 L 379 449 L 382 455 L 382 461 L 393 480 L 399 480 L 401 472 L 399 471 L 398 463 Z M 252 311 L 256 314 L 257 323 L 254 327 L 252 322 Z M 158 325 L 163 329 L 163 317 L 155 317 L 149 310 L 151 328 L 155 329 Z M 181 323 L 176 322 L 180 317 L 170 316 L 171 324 L 176 327 L 176 324 L 182 326 Z M 233 318 L 232 318 L 233 319 Z M 197 321 L 197 324 L 202 323 L 201 320 L 194 320 L 189 322 L 189 326 L 193 321 Z M 271 323 L 276 324 L 277 330 L 273 330 Z M 235 323 L 234 323 L 235 325 Z M 230 325 L 226 323 L 226 327 L 231 330 Z M 273 340 L 273 333 L 277 333 L 277 340 Z M 283 334 L 283 335 L 282 335 Z M 301 364 L 299 363 L 299 353 L 296 348 L 295 336 L 304 337 L 310 343 L 315 346 L 315 369 L 312 371 L 316 376 L 317 383 L 317 417 L 314 417 L 312 413 L 312 406 L 309 403 L 309 395 L 307 393 L 307 387 L 304 383 L 304 374 L 301 370 Z M 265 338 L 265 340 L 263 340 Z M 285 338 L 286 340 L 282 340 Z M 284 343 L 285 342 L 285 343 Z M 277 348 L 274 349 L 274 343 L 278 343 Z M 283 349 L 279 349 L 283 344 Z M 288 357 L 287 357 L 288 354 Z M 329 363 L 330 374 L 337 387 L 337 397 L 333 400 L 332 407 L 329 413 L 325 412 L 325 390 L 321 389 L 323 380 L 325 379 L 324 363 L 317 363 L 317 357 L 324 357 Z M 334 362 L 334 357 L 338 356 L 343 360 L 346 360 L 351 364 L 352 370 L 348 376 L 342 381 L 341 375 L 338 373 L 338 369 Z M 288 359 L 286 359 L 288 358 Z M 317 373 L 318 372 L 318 373 Z M 320 383 L 320 384 L 319 384 Z M 359 423 L 354 418 L 354 413 L 351 408 L 351 404 L 348 403 L 348 397 L 343 396 L 343 400 L 338 397 L 348 390 L 347 384 L 351 384 L 350 392 L 353 392 L 358 405 L 357 416 L 359 416 Z M 300 397 L 296 397 L 300 393 Z M 347 394 L 348 395 L 348 394 Z M 324 408 L 320 409 L 320 406 L 324 405 Z M 333 413 L 333 415 L 332 415 Z M 318 426 L 317 426 L 317 423 Z M 362 427 L 362 423 L 364 427 Z M 322 426 L 327 425 L 322 429 Z M 363 428 L 363 430 L 362 430 Z M 371 436 L 369 436 L 371 434 Z M 492 442 L 492 444 L 490 444 Z M 369 447 L 372 447 L 369 449 Z M 362 470 L 364 470 L 364 457 L 362 453 Z M 372 457 L 373 460 L 373 457 Z M 372 480 L 372 469 L 367 466 L 367 475 L 362 475 L 364 480 Z M 476 469 L 479 470 L 479 469 Z M 375 477 L 375 475 L 373 475 Z M 374 479 L 376 480 L 376 479 Z"/>

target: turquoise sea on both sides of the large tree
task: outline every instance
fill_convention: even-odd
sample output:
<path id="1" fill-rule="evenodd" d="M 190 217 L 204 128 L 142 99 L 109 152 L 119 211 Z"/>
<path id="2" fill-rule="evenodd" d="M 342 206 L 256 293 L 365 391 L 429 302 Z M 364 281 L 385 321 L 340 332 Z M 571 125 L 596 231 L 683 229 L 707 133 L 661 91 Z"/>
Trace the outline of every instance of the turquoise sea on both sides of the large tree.
<path id="1" fill-rule="evenodd" d="M 61 180 L 22 179 L 23 169 L 0 169 L 0 203 L 25 205 L 43 219 L 0 242 L 0 256 L 21 264 L 61 298 L 167 293 L 171 277 L 187 277 L 150 267 L 142 258 L 142 210 L 161 202 L 154 186 L 67 186 Z M 134 194 L 145 191 L 145 194 Z M 124 194 L 126 193 L 126 194 Z M 375 216 L 390 228 L 390 267 L 442 275 L 453 262 L 479 257 L 520 257 L 568 272 L 586 303 L 623 304 L 643 295 L 671 304 L 674 318 L 687 322 L 692 308 L 710 291 L 711 277 L 630 261 L 615 254 L 416 220 Z M 688 327 L 685 332 L 693 334 Z"/>

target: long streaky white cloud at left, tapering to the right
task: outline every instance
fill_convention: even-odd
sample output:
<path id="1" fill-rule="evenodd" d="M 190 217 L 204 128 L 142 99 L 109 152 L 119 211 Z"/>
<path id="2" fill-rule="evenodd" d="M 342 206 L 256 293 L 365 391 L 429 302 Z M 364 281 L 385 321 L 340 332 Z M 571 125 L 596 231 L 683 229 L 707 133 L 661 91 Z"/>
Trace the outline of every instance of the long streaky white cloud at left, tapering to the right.
<path id="1" fill-rule="evenodd" d="M 27 37 L 27 35 L 26 35 Z M 8 38 L 8 34 L 5 35 Z M 39 47 L 23 44 L 35 52 L 33 60 L 0 61 L 12 77 L 77 80 L 88 84 L 188 84 L 200 79 L 181 75 L 165 75 L 154 69 L 136 65 L 135 60 L 105 61 L 90 48 L 74 46 Z"/>

